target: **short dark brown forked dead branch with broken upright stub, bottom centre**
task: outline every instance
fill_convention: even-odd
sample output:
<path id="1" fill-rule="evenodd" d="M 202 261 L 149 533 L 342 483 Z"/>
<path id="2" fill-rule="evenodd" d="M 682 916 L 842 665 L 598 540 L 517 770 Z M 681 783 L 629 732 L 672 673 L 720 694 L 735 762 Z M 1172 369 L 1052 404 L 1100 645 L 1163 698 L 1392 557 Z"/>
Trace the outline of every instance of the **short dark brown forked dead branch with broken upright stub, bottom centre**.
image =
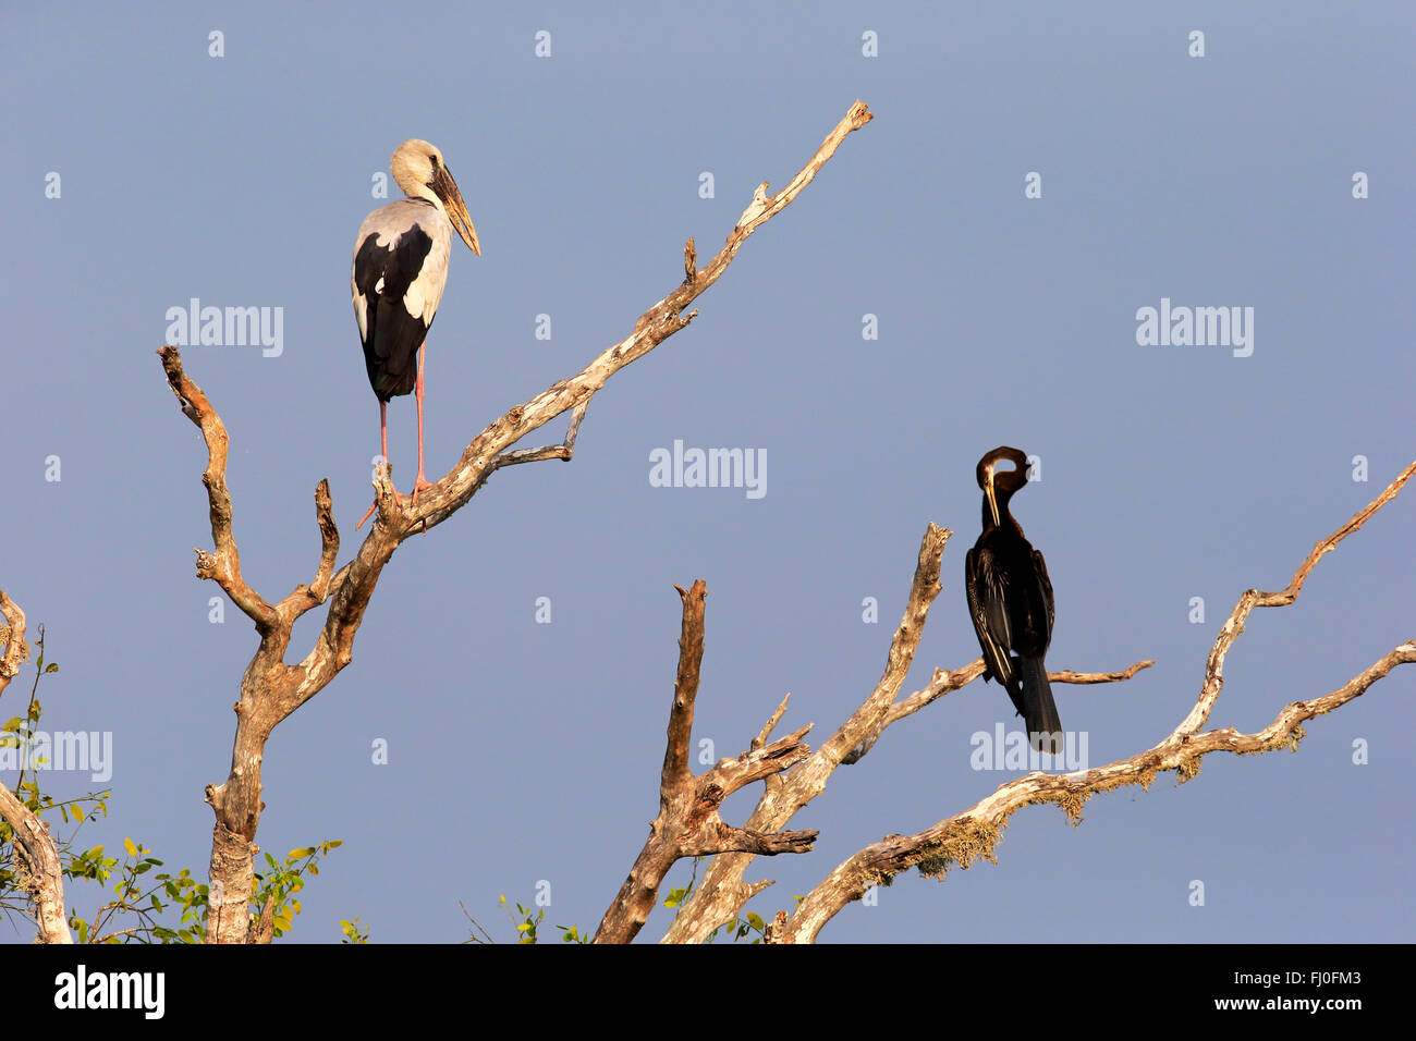
<path id="1" fill-rule="evenodd" d="M 649 912 L 654 909 L 658 887 L 668 870 L 684 857 L 729 851 L 773 857 L 779 853 L 807 853 L 816 841 L 816 831 L 765 834 L 750 827 L 732 827 L 718 816 L 724 799 L 733 792 L 755 780 L 780 775 L 806 759 L 811 749 L 801 738 L 810 725 L 770 745 L 753 741 L 752 748 L 736 759 L 719 759 L 700 778 L 688 769 L 694 704 L 704 657 L 707 586 L 700 579 L 687 592 L 681 586 L 674 588 L 683 599 L 684 616 L 678 639 L 678 677 L 668 712 L 664 768 L 658 782 L 658 816 L 649 826 L 649 838 L 624 885 L 605 912 L 600 928 L 595 932 L 595 943 L 629 943 L 634 939 Z"/>

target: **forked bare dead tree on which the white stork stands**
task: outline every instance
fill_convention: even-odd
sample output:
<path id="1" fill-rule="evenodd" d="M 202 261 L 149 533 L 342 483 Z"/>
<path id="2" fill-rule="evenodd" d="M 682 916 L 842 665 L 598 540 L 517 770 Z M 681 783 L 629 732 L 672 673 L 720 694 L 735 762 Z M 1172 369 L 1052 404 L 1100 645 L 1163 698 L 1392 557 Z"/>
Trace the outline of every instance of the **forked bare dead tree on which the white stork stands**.
<path id="1" fill-rule="evenodd" d="M 236 606 L 255 620 L 256 632 L 261 635 L 259 647 L 246 666 L 241 681 L 241 697 L 235 704 L 236 738 L 229 775 L 225 783 L 207 787 L 207 800 L 217 817 L 212 831 L 208 940 L 241 943 L 252 935 L 248 929 L 249 895 L 255 834 L 263 809 L 261 765 L 265 741 L 282 719 L 329 686 L 353 660 L 354 637 L 362 623 L 364 610 L 384 567 L 399 544 L 447 520 L 504 466 L 545 459 L 569 460 L 581 422 L 596 391 L 622 368 L 684 329 L 697 314 L 687 312 L 688 305 L 722 276 L 742 244 L 796 198 L 831 159 L 841 142 L 852 130 L 865 126 L 871 118 L 869 109 L 862 102 L 855 102 L 827 135 L 816 154 L 782 191 L 770 198 L 763 195 L 759 200 L 760 205 L 749 207 L 749 212 L 729 232 L 722 249 L 702 269 L 697 268 L 690 239 L 684 251 L 683 283 L 640 314 L 627 337 L 607 347 L 576 375 L 552 384 L 490 423 L 467 445 L 457 465 L 419 496 L 416 504 L 411 500 L 395 501 L 387 470 L 377 473 L 374 479 L 377 520 L 354 558 L 338 571 L 333 571 L 338 533 L 329 508 L 329 486 L 321 482 L 316 491 L 321 552 L 314 581 L 309 586 L 296 586 L 276 606 L 265 601 L 241 575 L 241 558 L 232 535 L 231 494 L 225 483 L 225 425 L 201 388 L 183 371 L 177 348 L 163 347 L 159 351 L 167 381 L 181 402 L 184 415 L 201 429 L 207 443 L 208 462 L 202 483 L 210 499 L 214 551 L 197 552 L 197 576 L 210 578 L 221 585 Z M 571 422 L 561 445 L 514 448 L 523 438 L 568 411 Z M 314 646 L 299 664 L 286 664 L 285 654 L 295 620 L 319 605 L 327 605 L 327 610 Z M 698 846 L 728 848 L 728 844 L 736 843 L 742 848 L 765 851 L 763 847 L 779 843 L 777 837 L 759 838 L 750 833 L 729 831 L 731 834 L 716 836 L 714 841 L 700 841 Z M 253 935 L 262 935 L 259 928 Z"/>

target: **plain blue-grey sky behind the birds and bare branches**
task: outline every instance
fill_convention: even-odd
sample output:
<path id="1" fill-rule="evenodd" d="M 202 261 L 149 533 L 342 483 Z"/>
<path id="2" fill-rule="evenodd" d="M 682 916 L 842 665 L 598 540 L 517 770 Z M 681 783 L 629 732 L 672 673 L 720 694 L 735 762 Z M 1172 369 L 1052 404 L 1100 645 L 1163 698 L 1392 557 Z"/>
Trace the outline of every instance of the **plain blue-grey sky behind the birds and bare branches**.
<path id="1" fill-rule="evenodd" d="M 283 309 L 279 357 L 184 351 L 231 435 L 245 575 L 283 596 L 314 569 L 316 482 L 341 562 L 371 501 L 350 259 L 384 204 L 371 178 L 413 136 L 443 150 L 483 245 L 455 241 L 429 337 L 436 479 L 626 336 L 681 279 L 684 239 L 709 256 L 759 181 L 784 184 L 857 98 L 875 113 L 692 326 L 595 398 L 571 465 L 496 474 L 394 557 L 354 663 L 266 748 L 261 846 L 344 840 L 292 939 L 337 940 L 358 915 L 375 942 L 459 940 L 459 901 L 510 939 L 498 894 L 527 904 L 542 881 L 547 925 L 593 929 L 658 807 L 671 584 L 709 591 L 695 738 L 736 755 L 792 691 L 780 732 L 813 721 L 817 744 L 879 677 L 927 521 L 956 534 L 905 693 L 977 657 L 963 559 L 974 465 L 1001 443 L 1042 459 L 1014 507 L 1056 589 L 1048 664 L 1157 660 L 1058 686 L 1062 721 L 1092 765 L 1151 746 L 1236 598 L 1284 586 L 1416 457 L 1413 21 L 1402 3 L 6 4 L 0 586 L 61 663 L 45 727 L 113 735 L 112 812 L 85 841 L 129 836 L 205 878 L 202 787 L 227 776 L 256 643 L 234 605 L 208 620 L 219 589 L 193 576 L 205 450 L 153 353 L 167 309 Z M 1253 307 L 1252 355 L 1138 346 L 1136 312 L 1163 297 Z M 650 452 L 675 439 L 765 450 L 766 494 L 653 487 Z M 389 448 L 406 490 L 411 398 Z M 1252 618 L 1212 727 L 1259 729 L 1416 637 L 1413 523 L 1408 491 L 1296 605 Z M 0 717 L 23 712 L 28 678 Z M 1311 722 L 1297 755 L 1212 755 L 1182 786 L 1093 799 L 1080 827 L 1029 807 L 997 865 L 910 872 L 821 939 L 1408 940 L 1413 694 L 1399 669 Z M 893 727 L 793 820 L 820 829 L 814 853 L 749 870 L 779 880 L 750 909 L 770 918 L 861 846 L 1015 776 L 970 768 L 970 735 L 1000 721 L 1018 725 L 1007 695 L 976 683 Z M 69 902 L 88 916 L 99 894 Z"/>

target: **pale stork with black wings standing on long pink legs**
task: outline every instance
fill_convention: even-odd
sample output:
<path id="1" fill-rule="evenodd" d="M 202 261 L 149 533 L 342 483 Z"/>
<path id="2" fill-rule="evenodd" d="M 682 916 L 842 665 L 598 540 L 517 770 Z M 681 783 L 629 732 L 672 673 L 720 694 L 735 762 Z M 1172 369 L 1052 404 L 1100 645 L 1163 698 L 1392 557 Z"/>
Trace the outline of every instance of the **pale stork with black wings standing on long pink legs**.
<path id="1" fill-rule="evenodd" d="M 413 391 L 418 401 L 416 503 L 418 493 L 432 487 L 423 477 L 423 355 L 428 327 L 447 283 L 453 229 L 477 256 L 481 248 L 457 183 L 436 147 L 416 137 L 406 140 L 394 152 L 389 167 L 408 198 L 364 218 L 354 241 L 350 286 L 368 382 L 378 397 L 379 446 L 385 463 L 389 399 Z M 398 489 L 394 497 L 402 501 Z"/>

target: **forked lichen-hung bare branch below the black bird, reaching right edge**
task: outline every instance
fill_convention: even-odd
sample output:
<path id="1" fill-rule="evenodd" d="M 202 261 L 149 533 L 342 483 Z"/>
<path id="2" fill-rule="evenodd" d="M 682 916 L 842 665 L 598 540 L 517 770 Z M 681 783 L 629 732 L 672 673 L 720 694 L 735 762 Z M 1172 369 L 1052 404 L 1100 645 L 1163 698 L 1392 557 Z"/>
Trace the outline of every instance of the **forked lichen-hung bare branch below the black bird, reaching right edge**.
<path id="1" fill-rule="evenodd" d="M 1223 686 L 1225 657 L 1238 635 L 1243 632 L 1243 622 L 1255 606 L 1273 608 L 1293 603 L 1317 562 L 1395 499 L 1413 473 L 1416 463 L 1408 466 L 1382 494 L 1358 510 L 1347 524 L 1317 542 L 1286 589 L 1276 593 L 1249 589 L 1239 598 L 1215 639 L 1205 667 L 1205 683 L 1195 707 L 1158 745 L 1129 759 L 1079 773 L 1029 773 L 1003 785 L 963 813 L 918 834 L 886 836 L 837 865 L 803 898 L 787 922 L 775 931 L 773 939 L 782 943 L 813 942 L 821 928 L 848 902 L 860 899 L 869 885 L 886 882 L 906 868 L 918 867 L 925 875 L 942 878 L 953 864 L 967 867 L 974 860 L 994 860 L 994 846 L 1007 827 L 1008 817 L 1031 803 L 1056 803 L 1073 821 L 1080 821 L 1082 806 L 1093 795 L 1127 785 L 1141 785 L 1148 789 L 1164 770 L 1175 770 L 1181 782 L 1189 780 L 1199 773 L 1201 758 L 1211 752 L 1247 755 L 1272 752 L 1277 748 L 1296 749 L 1303 738 L 1301 724 L 1361 697 L 1396 666 L 1416 661 L 1416 640 L 1398 644 L 1330 694 L 1284 705 L 1273 722 L 1262 731 L 1242 734 L 1233 727 L 1225 727 L 1201 734 L 1198 729 L 1209 718 Z"/>

